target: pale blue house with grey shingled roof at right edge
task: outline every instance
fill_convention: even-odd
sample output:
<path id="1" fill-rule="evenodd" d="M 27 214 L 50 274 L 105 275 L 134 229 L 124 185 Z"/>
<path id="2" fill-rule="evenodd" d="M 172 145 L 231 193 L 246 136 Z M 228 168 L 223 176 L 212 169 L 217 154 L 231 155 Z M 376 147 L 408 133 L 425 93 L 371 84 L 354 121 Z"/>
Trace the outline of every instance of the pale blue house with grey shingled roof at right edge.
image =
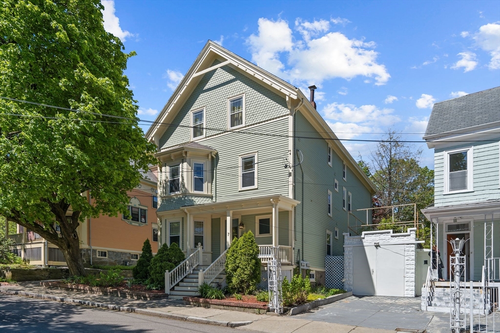
<path id="1" fill-rule="evenodd" d="M 449 240 L 469 239 L 466 280 L 500 279 L 500 87 L 434 104 L 425 136 L 434 149 L 434 204 L 422 210 L 449 279 Z M 489 267 L 489 269 L 488 269 Z"/>

